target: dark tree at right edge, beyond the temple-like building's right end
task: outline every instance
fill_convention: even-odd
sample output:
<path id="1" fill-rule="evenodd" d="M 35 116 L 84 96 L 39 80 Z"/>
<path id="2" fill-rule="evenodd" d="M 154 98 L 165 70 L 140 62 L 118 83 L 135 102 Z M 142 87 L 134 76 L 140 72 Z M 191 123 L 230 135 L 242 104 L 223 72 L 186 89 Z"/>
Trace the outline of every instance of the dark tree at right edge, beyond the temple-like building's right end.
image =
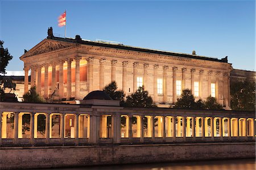
<path id="1" fill-rule="evenodd" d="M 230 104 L 233 110 L 255 111 L 255 83 L 232 82 L 230 84 Z"/>

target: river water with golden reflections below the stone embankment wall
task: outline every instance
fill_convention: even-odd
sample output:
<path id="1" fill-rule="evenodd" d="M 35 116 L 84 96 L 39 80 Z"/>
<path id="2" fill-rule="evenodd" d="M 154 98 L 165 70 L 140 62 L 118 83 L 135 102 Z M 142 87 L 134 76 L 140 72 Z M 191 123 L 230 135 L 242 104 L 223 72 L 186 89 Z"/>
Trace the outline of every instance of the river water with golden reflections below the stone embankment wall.
<path id="1" fill-rule="evenodd" d="M 255 159 L 193 161 L 183 163 L 104 165 L 82 168 L 61 168 L 65 170 L 121 169 L 121 170 L 255 170 Z"/>

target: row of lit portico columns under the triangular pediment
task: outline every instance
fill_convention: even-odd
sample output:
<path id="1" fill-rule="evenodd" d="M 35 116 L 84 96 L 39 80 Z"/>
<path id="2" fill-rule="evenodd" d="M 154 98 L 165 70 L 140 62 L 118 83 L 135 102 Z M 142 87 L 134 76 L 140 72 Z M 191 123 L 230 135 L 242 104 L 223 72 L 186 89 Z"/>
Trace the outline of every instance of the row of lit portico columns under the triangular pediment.
<path id="1" fill-rule="evenodd" d="M 76 61 L 76 73 L 75 73 L 75 98 L 79 99 L 80 95 L 80 56 L 75 57 Z M 56 65 L 59 64 L 59 97 L 64 98 L 64 81 L 63 81 L 63 64 L 67 61 L 67 99 L 71 98 L 71 63 L 73 59 L 61 60 L 59 63 L 51 63 L 52 67 L 52 83 L 51 83 L 51 92 L 52 94 L 57 88 L 57 80 L 56 80 Z M 49 77 L 48 77 L 48 68 L 49 64 L 43 65 L 44 67 L 44 98 L 49 97 Z M 25 67 L 24 72 L 24 93 L 28 91 L 28 71 L 30 68 Z M 31 67 L 31 87 L 36 85 L 36 90 L 39 94 L 41 94 L 41 82 L 42 82 L 42 67 L 35 66 Z"/>

